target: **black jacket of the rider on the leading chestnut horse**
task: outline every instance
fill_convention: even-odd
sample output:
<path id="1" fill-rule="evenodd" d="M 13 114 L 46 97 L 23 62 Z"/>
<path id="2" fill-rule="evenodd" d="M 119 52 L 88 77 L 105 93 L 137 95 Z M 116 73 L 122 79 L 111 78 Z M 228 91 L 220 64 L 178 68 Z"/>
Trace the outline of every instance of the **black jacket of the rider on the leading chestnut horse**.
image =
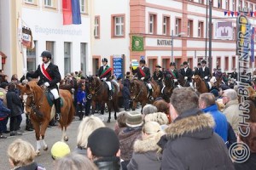
<path id="1" fill-rule="evenodd" d="M 44 64 L 42 64 L 44 65 Z M 38 82 L 38 86 L 41 86 L 44 84 L 44 82 L 49 82 L 49 89 L 52 89 L 52 88 L 57 88 L 57 83 L 58 82 L 61 82 L 61 74 L 60 74 L 60 71 L 59 71 L 59 68 L 57 65 L 54 65 L 52 63 L 49 63 L 46 71 L 48 72 L 49 74 L 49 77 L 52 78 L 51 81 L 49 81 L 49 79 L 47 77 L 44 77 L 44 74 L 42 73 L 41 71 L 41 65 L 38 65 L 38 69 L 37 71 L 35 71 L 34 73 L 27 73 L 26 74 L 26 77 L 31 77 L 31 78 L 38 78 L 40 77 L 40 80 Z"/>

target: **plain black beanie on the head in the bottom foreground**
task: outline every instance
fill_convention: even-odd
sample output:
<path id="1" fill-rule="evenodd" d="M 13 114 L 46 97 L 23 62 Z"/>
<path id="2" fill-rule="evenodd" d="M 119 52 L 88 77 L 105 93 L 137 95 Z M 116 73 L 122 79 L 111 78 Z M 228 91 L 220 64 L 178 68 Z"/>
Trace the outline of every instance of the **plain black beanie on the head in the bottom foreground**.
<path id="1" fill-rule="evenodd" d="M 87 147 L 93 156 L 116 156 L 119 151 L 119 139 L 112 129 L 100 127 L 90 134 Z"/>

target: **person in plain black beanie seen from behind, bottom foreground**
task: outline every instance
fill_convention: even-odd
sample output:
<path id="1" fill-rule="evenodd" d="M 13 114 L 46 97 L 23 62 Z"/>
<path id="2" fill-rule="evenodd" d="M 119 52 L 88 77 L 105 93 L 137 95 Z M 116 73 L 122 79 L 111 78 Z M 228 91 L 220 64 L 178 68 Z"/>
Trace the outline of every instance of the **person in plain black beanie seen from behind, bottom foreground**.
<path id="1" fill-rule="evenodd" d="M 119 170 L 119 139 L 108 127 L 100 127 L 90 134 L 87 156 L 99 169 Z"/>

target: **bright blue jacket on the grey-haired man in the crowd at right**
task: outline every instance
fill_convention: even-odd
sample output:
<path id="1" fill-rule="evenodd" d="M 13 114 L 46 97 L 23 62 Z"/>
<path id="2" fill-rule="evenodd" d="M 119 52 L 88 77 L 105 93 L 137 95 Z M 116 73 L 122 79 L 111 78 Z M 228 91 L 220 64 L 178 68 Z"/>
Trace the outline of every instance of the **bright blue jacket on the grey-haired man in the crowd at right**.
<path id="1" fill-rule="evenodd" d="M 215 121 L 214 131 L 218 133 L 218 135 L 224 139 L 224 142 L 228 139 L 228 121 L 226 116 L 220 111 L 218 111 L 217 105 L 211 105 L 207 108 L 203 109 L 205 113 L 209 112 Z"/>

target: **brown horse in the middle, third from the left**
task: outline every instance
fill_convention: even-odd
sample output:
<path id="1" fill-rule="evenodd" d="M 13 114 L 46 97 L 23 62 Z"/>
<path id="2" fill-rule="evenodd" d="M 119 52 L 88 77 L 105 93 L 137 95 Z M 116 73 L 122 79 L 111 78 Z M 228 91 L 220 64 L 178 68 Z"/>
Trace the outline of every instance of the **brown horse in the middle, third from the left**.
<path id="1" fill-rule="evenodd" d="M 153 88 L 152 96 L 154 99 L 156 99 L 160 96 L 160 86 L 157 84 L 157 82 L 154 81 L 154 79 L 151 79 L 150 83 Z M 140 102 L 142 104 L 142 111 L 144 105 L 146 105 L 147 103 L 151 103 L 148 99 L 149 92 L 145 82 L 137 80 L 136 78 L 132 79 L 130 82 L 129 91 L 132 99 L 132 111 L 135 111 L 135 108 L 137 107 L 137 102 Z"/>

